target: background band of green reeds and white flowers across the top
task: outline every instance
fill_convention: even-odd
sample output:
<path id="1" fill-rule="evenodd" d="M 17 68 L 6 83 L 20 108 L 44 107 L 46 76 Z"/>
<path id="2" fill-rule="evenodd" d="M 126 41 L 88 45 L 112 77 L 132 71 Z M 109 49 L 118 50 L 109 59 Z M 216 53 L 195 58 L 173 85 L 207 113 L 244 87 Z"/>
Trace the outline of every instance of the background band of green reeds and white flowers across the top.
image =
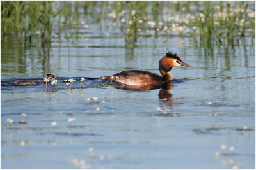
<path id="1" fill-rule="evenodd" d="M 86 37 L 84 30 L 92 23 L 120 31 L 127 47 L 144 36 L 189 36 L 195 45 L 198 38 L 203 45 L 233 45 L 241 37 L 255 37 L 255 2 L 1 2 L 1 38 L 15 36 L 24 45 L 48 46 L 52 37 Z"/>

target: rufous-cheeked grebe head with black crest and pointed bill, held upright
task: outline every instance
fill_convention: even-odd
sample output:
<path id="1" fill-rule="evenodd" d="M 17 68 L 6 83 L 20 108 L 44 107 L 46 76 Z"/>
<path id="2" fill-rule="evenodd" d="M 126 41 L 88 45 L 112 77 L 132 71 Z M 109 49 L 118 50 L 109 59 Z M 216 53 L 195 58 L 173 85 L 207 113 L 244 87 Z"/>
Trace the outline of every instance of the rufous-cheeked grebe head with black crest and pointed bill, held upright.
<path id="1" fill-rule="evenodd" d="M 159 69 L 164 72 L 168 72 L 172 69 L 172 67 L 193 67 L 185 62 L 182 62 L 180 57 L 178 57 L 177 53 L 173 53 L 172 51 L 166 53 L 166 55 L 159 61 Z"/>

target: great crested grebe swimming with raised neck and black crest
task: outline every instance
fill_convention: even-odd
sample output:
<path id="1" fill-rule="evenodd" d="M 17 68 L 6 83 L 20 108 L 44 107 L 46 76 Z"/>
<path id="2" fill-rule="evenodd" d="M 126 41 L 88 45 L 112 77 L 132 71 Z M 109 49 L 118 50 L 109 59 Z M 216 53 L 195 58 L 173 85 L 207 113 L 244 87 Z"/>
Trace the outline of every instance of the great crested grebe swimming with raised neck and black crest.
<path id="1" fill-rule="evenodd" d="M 173 76 L 170 73 L 172 67 L 193 67 L 180 60 L 177 53 L 168 52 L 166 55 L 159 60 L 159 71 L 162 76 L 156 73 L 143 70 L 128 70 L 116 73 L 113 76 L 103 76 L 100 79 L 103 80 L 115 80 L 126 85 L 150 85 L 150 84 L 161 84 L 173 80 Z"/>

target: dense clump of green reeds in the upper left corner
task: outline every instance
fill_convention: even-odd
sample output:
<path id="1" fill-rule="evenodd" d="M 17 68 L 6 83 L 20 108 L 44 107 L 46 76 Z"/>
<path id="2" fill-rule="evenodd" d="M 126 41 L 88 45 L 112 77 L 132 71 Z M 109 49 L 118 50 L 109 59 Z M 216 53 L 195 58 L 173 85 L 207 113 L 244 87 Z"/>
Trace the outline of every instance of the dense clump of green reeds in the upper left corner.
<path id="1" fill-rule="evenodd" d="M 3 1 L 1 2 L 1 36 L 16 34 L 20 43 L 32 42 L 40 34 L 42 46 L 51 40 L 51 30 L 54 17 L 51 1 Z M 40 27 L 40 32 L 38 32 Z"/>

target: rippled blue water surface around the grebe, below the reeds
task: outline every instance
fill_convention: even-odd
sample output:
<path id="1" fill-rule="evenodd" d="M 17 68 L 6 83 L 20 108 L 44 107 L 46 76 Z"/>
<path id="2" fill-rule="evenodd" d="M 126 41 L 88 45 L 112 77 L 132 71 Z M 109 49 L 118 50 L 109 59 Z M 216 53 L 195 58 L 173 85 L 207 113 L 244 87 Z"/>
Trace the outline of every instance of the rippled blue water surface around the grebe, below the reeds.
<path id="1" fill-rule="evenodd" d="M 92 27 L 88 39 L 56 38 L 51 49 L 2 41 L 2 168 L 255 168 L 254 40 L 206 48 L 146 37 L 132 49 Z M 168 50 L 194 68 L 174 67 L 167 90 L 98 87 L 100 76 L 127 69 L 159 74 Z M 12 85 L 46 73 L 60 77 L 56 89 Z"/>

